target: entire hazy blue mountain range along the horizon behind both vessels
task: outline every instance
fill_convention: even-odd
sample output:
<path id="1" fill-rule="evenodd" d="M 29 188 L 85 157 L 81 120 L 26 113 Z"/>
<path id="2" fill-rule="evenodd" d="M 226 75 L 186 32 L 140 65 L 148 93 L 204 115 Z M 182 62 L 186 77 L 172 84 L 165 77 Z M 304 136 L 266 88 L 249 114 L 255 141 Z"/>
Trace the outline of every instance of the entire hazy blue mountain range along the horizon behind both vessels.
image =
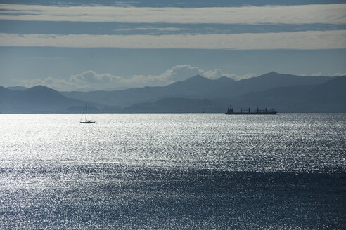
<path id="1" fill-rule="evenodd" d="M 0 86 L 1 113 L 220 113 L 226 107 L 274 107 L 279 112 L 346 112 L 346 76 L 270 72 L 234 81 L 193 76 L 168 86 L 58 92 L 45 86 Z"/>

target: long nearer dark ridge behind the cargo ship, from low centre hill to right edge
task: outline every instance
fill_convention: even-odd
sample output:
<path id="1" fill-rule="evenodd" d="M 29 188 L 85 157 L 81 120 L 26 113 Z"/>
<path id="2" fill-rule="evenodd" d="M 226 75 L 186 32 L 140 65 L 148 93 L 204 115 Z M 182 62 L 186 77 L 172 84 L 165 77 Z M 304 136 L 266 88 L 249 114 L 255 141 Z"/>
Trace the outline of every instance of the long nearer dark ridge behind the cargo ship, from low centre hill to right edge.
<path id="1" fill-rule="evenodd" d="M 232 105 L 252 110 L 274 107 L 279 112 L 346 112 L 346 76 L 319 85 L 298 85 L 246 93 L 233 98 L 167 98 L 157 102 L 134 104 L 120 112 L 220 112 Z"/>

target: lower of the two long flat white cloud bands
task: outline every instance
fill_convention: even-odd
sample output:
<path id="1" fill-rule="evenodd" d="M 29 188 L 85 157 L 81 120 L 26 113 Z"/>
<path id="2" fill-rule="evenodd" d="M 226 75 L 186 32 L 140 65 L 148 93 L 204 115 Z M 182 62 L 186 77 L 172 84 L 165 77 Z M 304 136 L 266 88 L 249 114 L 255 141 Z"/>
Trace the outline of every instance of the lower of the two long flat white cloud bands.
<path id="1" fill-rule="evenodd" d="M 229 50 L 346 48 L 346 30 L 170 35 L 6 34 L 0 46 L 49 46 L 75 48 L 191 48 Z"/>

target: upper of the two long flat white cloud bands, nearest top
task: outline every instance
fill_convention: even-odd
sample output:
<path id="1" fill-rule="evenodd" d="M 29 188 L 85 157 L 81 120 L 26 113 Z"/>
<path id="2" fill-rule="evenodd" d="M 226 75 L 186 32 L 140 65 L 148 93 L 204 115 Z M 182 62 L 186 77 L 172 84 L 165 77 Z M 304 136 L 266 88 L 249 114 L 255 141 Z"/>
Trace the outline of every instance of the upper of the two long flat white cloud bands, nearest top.
<path id="1" fill-rule="evenodd" d="M 0 20 L 127 23 L 345 24 L 346 4 L 150 8 L 0 4 Z"/>

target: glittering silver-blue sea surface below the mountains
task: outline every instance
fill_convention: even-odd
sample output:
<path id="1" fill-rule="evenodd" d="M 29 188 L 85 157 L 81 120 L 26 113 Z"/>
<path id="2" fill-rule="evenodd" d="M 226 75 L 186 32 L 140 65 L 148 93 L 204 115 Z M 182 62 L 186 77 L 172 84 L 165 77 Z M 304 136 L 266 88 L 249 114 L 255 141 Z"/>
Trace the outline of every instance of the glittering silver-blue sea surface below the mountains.
<path id="1" fill-rule="evenodd" d="M 346 229 L 346 114 L 0 114 L 0 229 Z"/>

